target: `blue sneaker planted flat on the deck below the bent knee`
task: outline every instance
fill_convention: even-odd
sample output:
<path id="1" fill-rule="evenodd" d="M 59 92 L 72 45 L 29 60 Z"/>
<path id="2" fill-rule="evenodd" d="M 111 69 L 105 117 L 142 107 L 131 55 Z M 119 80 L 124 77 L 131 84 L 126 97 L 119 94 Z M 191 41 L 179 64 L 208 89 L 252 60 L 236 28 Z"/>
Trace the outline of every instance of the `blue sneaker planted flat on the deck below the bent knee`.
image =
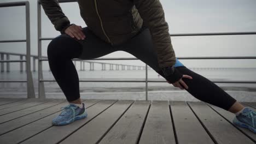
<path id="1" fill-rule="evenodd" d="M 61 109 L 62 112 L 60 113 L 60 115 L 53 119 L 53 125 L 66 125 L 78 119 L 86 118 L 88 115 L 84 107 L 84 103 L 83 108 L 80 108 L 75 104 L 69 104 L 65 107 L 61 107 Z"/>

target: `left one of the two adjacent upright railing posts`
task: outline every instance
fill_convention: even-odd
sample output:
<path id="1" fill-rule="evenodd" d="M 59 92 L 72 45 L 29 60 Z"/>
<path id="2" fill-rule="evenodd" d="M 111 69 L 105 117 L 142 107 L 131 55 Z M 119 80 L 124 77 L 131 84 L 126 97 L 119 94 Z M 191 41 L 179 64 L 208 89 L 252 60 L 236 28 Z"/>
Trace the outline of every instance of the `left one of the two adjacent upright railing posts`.
<path id="1" fill-rule="evenodd" d="M 27 70 L 27 98 L 36 98 L 34 94 L 34 83 L 31 73 L 30 53 L 30 2 L 26 1 L 26 70 Z"/>

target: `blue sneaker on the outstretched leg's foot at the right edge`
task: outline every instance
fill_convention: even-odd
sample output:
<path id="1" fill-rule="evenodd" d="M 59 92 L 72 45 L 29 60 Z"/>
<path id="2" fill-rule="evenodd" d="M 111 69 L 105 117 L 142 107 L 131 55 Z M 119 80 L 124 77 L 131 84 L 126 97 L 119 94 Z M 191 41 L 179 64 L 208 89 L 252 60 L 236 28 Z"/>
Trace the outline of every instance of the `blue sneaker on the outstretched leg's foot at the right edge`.
<path id="1" fill-rule="evenodd" d="M 233 123 L 238 127 L 249 129 L 256 134 L 256 112 L 249 107 L 245 107 L 245 109 L 233 119 Z"/>

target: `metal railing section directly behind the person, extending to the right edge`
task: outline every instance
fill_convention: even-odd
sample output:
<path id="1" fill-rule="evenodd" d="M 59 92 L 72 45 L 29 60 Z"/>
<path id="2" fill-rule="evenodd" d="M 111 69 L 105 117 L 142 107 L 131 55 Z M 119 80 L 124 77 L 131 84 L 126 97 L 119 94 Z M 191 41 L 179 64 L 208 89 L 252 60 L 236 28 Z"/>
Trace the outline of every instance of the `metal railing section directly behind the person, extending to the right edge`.
<path id="1" fill-rule="evenodd" d="M 59 0 L 59 3 L 67 2 L 77 2 L 75 0 Z M 45 98 L 44 84 L 45 81 L 42 75 L 42 61 L 48 61 L 46 58 L 42 58 L 42 40 L 52 40 L 54 38 L 42 38 L 41 37 L 41 5 L 38 1 L 38 88 L 39 88 L 39 98 Z M 234 33 L 185 33 L 185 34 L 170 34 L 172 37 L 182 37 L 182 36 L 206 36 L 206 35 L 246 35 L 246 34 L 256 34 L 256 32 L 234 32 Z M 178 59 L 256 59 L 256 57 L 177 57 Z M 73 59 L 74 61 L 83 61 L 83 59 Z M 96 58 L 93 60 L 139 60 L 138 58 Z M 166 81 L 149 81 L 148 80 L 148 65 L 146 64 L 146 77 L 144 81 L 109 81 L 109 80 L 79 80 L 79 82 L 145 82 L 146 83 L 146 100 L 148 100 L 148 82 L 166 82 Z M 216 83 L 256 83 L 256 81 L 212 81 Z"/>

